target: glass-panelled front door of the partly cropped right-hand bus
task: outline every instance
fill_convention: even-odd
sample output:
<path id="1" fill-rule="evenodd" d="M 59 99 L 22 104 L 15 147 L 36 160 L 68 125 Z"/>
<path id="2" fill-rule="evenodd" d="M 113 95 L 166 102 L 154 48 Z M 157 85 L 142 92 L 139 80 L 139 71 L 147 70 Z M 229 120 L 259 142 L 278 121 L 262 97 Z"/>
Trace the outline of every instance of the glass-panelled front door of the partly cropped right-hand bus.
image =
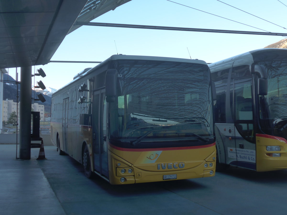
<path id="1" fill-rule="evenodd" d="M 237 166 L 256 170 L 252 79 L 236 78 L 233 83 L 233 119 Z"/>

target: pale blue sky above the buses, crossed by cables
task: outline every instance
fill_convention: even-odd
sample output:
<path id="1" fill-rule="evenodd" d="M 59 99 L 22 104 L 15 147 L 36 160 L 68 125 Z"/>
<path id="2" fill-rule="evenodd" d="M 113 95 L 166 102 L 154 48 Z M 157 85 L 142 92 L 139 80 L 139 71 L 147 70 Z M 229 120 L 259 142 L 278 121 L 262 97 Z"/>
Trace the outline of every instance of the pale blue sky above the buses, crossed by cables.
<path id="1" fill-rule="evenodd" d="M 220 30 L 241 30 L 287 33 L 287 0 L 232 1 L 223 2 L 266 19 L 279 26 L 234 9 L 217 0 L 173 0 L 199 10 L 232 19 L 262 30 L 210 15 L 167 0 L 132 0 L 114 11 L 94 19 L 94 22 L 173 26 L 185 28 L 207 28 Z M 133 28 L 82 26 L 67 35 L 51 60 L 103 61 L 113 54 L 165 56 L 216 62 L 237 54 L 264 48 L 284 39 L 282 36 L 261 36 L 245 34 L 222 34 L 206 32 L 185 32 Z M 116 46 L 117 50 L 116 50 Z M 187 51 L 189 50 L 189 53 Z M 42 68 L 46 87 L 59 89 L 73 80 L 74 75 L 97 64 L 49 63 Z M 34 67 L 32 67 L 34 71 Z M 13 76 L 15 69 L 9 69 Z M 20 74 L 20 72 L 19 72 Z M 15 75 L 14 75 L 15 76 Z M 33 82 L 33 81 L 32 81 Z"/>

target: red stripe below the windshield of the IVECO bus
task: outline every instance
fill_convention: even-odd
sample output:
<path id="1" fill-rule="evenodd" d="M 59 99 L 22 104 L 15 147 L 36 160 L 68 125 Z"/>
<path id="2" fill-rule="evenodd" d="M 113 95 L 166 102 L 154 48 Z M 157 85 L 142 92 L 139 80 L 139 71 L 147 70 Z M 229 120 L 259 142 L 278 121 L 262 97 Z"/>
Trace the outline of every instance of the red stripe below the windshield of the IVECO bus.
<path id="1" fill-rule="evenodd" d="M 120 151 L 128 151 L 128 152 L 144 152 L 144 151 L 168 151 L 168 150 L 185 150 L 185 149 L 197 149 L 197 148 L 208 148 L 215 145 L 215 142 L 208 145 L 202 146 L 185 146 L 185 147 L 171 147 L 171 148 L 122 148 L 110 144 L 111 147 L 120 150 Z"/>

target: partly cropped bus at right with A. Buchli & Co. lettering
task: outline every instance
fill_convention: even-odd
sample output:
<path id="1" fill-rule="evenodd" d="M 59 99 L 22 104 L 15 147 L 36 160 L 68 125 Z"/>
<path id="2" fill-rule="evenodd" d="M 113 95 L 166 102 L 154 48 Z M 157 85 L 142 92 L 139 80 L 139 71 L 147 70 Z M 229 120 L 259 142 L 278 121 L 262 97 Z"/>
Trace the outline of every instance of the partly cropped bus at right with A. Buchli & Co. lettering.
<path id="1" fill-rule="evenodd" d="M 287 50 L 254 50 L 209 67 L 217 167 L 287 169 Z"/>

